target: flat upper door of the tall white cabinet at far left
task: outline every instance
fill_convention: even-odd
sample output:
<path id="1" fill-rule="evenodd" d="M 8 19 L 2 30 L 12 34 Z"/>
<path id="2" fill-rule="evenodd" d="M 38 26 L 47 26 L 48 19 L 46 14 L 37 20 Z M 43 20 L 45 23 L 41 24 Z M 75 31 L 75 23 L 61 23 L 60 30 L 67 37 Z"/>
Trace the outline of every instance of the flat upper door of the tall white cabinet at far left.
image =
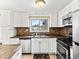
<path id="1" fill-rule="evenodd" d="M 0 26 L 10 25 L 10 11 L 0 10 Z"/>

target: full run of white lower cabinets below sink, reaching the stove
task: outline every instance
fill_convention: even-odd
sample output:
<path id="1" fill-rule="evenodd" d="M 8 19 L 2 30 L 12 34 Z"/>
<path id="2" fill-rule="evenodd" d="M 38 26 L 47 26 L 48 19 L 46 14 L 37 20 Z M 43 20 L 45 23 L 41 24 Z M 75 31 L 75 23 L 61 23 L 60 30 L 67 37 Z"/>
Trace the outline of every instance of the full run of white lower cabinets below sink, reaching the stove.
<path id="1" fill-rule="evenodd" d="M 56 53 L 56 38 L 32 38 L 32 54 Z"/>

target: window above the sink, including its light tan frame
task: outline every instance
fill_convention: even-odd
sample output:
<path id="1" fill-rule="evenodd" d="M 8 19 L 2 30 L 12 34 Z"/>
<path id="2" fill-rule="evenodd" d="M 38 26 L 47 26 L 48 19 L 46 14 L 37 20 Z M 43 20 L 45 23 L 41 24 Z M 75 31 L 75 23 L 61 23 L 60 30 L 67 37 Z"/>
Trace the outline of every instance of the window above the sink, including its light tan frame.
<path id="1" fill-rule="evenodd" d="M 30 32 L 49 32 L 50 16 L 29 16 Z"/>

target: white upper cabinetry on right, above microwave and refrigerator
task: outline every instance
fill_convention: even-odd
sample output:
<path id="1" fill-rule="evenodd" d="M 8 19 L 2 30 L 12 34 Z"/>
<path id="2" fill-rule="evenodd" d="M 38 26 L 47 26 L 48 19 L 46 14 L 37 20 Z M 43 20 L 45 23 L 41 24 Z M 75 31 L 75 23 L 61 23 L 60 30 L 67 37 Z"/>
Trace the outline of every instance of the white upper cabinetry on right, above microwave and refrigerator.
<path id="1" fill-rule="evenodd" d="M 79 0 L 73 0 L 69 5 L 64 7 L 58 12 L 58 26 L 62 26 L 62 16 L 67 15 L 69 12 L 79 9 Z"/>

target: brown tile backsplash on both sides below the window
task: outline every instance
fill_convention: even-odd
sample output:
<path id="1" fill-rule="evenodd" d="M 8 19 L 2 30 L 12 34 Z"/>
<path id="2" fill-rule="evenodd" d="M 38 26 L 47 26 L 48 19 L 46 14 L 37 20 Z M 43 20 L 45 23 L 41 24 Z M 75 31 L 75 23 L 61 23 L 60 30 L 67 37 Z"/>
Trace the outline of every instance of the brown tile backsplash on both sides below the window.
<path id="1" fill-rule="evenodd" d="M 29 36 L 33 32 L 30 32 L 29 27 L 15 27 L 16 36 Z M 49 35 L 49 36 L 68 36 L 72 31 L 71 27 L 50 27 L 49 32 L 39 32 L 40 35 Z"/>

